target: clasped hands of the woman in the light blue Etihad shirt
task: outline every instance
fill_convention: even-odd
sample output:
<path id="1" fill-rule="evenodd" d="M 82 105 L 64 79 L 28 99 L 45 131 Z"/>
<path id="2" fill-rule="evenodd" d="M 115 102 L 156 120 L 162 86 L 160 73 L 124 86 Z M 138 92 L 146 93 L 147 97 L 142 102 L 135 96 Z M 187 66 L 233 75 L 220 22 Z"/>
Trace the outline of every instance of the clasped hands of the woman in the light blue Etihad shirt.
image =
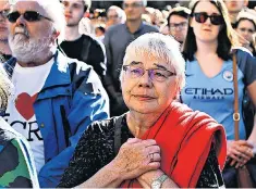
<path id="1" fill-rule="evenodd" d="M 246 140 L 229 140 L 228 141 L 228 160 L 230 165 L 237 167 L 243 166 L 253 156 L 253 146 Z"/>

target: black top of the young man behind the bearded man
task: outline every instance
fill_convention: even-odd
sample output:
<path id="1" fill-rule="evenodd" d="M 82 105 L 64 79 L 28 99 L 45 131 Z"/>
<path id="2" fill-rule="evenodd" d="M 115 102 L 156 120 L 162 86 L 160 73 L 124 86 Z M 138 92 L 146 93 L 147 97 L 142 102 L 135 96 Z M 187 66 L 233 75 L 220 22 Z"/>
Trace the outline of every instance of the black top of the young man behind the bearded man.
<path id="1" fill-rule="evenodd" d="M 61 42 L 60 47 L 69 58 L 92 65 L 100 78 L 106 75 L 107 55 L 102 42 L 90 36 L 82 35 L 74 41 Z"/>

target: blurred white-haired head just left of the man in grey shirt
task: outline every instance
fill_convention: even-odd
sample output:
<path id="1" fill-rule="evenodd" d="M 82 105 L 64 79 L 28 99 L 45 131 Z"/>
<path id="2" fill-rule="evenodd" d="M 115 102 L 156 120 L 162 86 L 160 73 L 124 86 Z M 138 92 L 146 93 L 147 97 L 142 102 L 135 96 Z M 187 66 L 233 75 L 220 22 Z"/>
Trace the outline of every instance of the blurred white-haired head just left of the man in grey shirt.
<path id="1" fill-rule="evenodd" d="M 111 5 L 107 11 L 106 29 L 108 29 L 112 25 L 123 24 L 125 20 L 126 16 L 124 11 L 117 5 Z"/>

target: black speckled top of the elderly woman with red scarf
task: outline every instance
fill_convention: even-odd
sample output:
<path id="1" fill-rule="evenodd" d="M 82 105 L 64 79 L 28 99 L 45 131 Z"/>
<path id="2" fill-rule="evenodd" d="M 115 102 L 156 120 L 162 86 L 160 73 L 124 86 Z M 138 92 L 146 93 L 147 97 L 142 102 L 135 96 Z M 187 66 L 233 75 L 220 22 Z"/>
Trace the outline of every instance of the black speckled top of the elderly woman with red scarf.
<path id="1" fill-rule="evenodd" d="M 127 127 L 126 116 L 122 115 L 121 117 L 121 143 L 124 143 L 129 138 L 134 138 L 134 136 Z M 69 168 L 65 169 L 58 187 L 76 187 L 86 181 L 101 167 L 114 159 L 115 119 L 117 117 L 95 122 L 88 127 L 88 129 L 81 137 Z M 212 144 L 207 162 L 198 179 L 197 187 L 216 188 L 220 186 L 223 186 L 222 175 L 219 169 L 216 150 Z"/>

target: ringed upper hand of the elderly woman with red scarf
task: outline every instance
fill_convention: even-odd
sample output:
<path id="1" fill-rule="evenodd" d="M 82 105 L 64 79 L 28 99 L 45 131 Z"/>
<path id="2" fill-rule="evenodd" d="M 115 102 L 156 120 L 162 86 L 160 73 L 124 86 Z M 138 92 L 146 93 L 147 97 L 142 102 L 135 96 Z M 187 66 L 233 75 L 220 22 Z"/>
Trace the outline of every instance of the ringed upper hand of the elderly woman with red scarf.
<path id="1" fill-rule="evenodd" d="M 112 161 L 123 180 L 136 178 L 139 175 L 160 167 L 160 148 L 153 139 L 129 139 L 119 150 Z"/>

